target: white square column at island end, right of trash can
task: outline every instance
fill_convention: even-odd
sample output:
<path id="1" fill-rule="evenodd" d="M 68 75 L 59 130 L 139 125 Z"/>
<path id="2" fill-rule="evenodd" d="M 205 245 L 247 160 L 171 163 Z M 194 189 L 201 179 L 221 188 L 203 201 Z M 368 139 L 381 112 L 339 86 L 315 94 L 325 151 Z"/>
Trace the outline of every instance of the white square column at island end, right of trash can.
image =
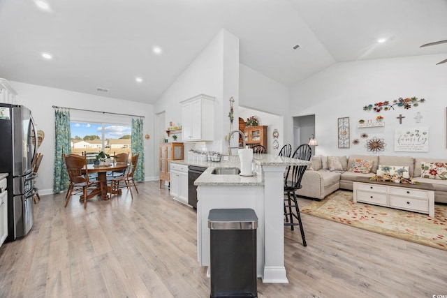
<path id="1" fill-rule="evenodd" d="M 264 165 L 263 283 L 288 283 L 284 267 L 284 165 Z"/>

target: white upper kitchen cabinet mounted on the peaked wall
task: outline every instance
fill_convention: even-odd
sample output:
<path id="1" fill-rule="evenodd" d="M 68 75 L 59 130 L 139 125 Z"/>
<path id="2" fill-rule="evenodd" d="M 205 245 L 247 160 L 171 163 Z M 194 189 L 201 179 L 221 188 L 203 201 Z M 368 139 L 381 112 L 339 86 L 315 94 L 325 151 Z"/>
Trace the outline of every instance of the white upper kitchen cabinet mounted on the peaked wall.
<path id="1" fill-rule="evenodd" d="M 214 97 L 199 94 L 182 104 L 182 140 L 212 141 L 214 136 Z"/>

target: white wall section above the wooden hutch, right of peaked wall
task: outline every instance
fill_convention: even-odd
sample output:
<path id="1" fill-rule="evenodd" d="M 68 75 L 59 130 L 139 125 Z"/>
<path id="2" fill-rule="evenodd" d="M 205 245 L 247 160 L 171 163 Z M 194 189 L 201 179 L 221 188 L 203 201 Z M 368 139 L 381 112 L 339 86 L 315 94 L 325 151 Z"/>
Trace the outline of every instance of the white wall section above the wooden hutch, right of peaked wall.
<path id="1" fill-rule="evenodd" d="M 279 149 L 284 144 L 293 142 L 293 137 L 290 137 L 292 129 L 288 129 L 289 126 L 293 126 L 288 113 L 289 89 L 244 64 L 240 64 L 239 73 L 239 104 L 241 107 L 256 110 L 255 113 L 262 118 L 261 125 L 269 126 L 267 128 L 269 153 L 279 153 L 279 151 L 270 151 L 274 128 L 279 131 Z M 242 118 L 247 121 L 249 116 L 244 114 Z"/>

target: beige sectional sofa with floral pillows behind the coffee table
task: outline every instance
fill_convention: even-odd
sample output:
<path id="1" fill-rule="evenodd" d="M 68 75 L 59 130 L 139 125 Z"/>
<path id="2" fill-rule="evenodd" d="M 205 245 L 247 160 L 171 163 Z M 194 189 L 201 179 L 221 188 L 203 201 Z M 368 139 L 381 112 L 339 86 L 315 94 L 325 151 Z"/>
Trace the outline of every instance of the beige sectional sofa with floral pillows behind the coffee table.
<path id="1" fill-rule="evenodd" d="M 341 170 L 331 165 L 337 158 L 337 165 Z M 372 161 L 369 174 L 350 172 L 356 160 Z M 302 188 L 296 193 L 302 197 L 322 200 L 326 195 L 342 188 L 353 189 L 353 181 L 357 177 L 372 177 L 376 174 L 379 165 L 407 166 L 409 175 L 414 180 L 432 184 L 434 186 L 434 202 L 447 204 L 447 180 L 421 177 L 421 163 L 447 163 L 447 158 L 413 158 L 411 156 L 377 156 L 377 155 L 351 155 L 351 156 L 312 156 L 312 167 L 308 167 L 302 177 Z"/>

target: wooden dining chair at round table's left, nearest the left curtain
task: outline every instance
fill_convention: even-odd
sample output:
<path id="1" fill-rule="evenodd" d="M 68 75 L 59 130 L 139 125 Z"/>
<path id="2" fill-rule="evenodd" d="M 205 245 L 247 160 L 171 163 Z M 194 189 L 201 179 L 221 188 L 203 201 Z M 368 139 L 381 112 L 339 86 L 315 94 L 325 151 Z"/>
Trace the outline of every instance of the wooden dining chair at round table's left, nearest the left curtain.
<path id="1" fill-rule="evenodd" d="M 70 201 L 71 195 L 83 195 L 84 208 L 87 207 L 87 194 L 93 188 L 101 187 L 100 181 L 91 181 L 87 169 L 87 158 L 78 154 L 62 154 L 67 167 L 70 185 L 65 197 L 65 207 Z"/>

